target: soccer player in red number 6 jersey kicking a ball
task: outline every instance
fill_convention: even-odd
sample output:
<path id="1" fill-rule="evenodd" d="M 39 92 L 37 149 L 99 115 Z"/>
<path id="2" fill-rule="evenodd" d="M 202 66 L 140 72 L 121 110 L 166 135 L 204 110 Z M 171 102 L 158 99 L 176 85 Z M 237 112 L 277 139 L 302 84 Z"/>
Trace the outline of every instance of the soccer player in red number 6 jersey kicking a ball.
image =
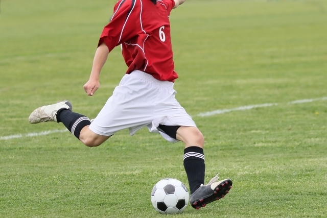
<path id="1" fill-rule="evenodd" d="M 61 122 L 88 147 L 100 146 L 115 132 L 129 128 L 130 135 L 145 126 L 170 142 L 185 143 L 183 164 L 188 176 L 191 205 L 199 209 L 223 198 L 232 181 L 218 181 L 218 175 L 204 184 L 204 138 L 192 117 L 175 99 L 174 70 L 169 16 L 185 0 L 119 0 L 104 27 L 89 80 L 87 95 L 100 87 L 100 71 L 108 53 L 121 45 L 128 66 L 97 117 L 90 121 L 72 111 L 68 101 L 35 109 L 31 124 Z"/>

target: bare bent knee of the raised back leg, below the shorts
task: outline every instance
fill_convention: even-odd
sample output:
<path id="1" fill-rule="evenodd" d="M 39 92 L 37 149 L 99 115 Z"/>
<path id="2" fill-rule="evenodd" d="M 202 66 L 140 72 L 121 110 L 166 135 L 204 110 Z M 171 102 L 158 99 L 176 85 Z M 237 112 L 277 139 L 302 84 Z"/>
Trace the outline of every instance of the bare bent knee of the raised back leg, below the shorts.
<path id="1" fill-rule="evenodd" d="M 80 133 L 80 140 L 88 147 L 97 147 L 105 142 L 110 136 L 99 135 L 85 126 Z"/>

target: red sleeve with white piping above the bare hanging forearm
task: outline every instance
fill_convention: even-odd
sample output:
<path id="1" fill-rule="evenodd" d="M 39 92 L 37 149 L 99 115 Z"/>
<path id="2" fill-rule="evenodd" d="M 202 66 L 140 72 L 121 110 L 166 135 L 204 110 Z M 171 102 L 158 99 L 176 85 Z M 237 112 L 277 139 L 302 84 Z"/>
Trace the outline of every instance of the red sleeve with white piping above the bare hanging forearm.
<path id="1" fill-rule="evenodd" d="M 104 42 L 109 52 L 117 45 L 134 37 L 135 29 L 135 2 L 120 0 L 114 6 L 114 13 L 107 26 L 104 27 L 98 46 Z"/>

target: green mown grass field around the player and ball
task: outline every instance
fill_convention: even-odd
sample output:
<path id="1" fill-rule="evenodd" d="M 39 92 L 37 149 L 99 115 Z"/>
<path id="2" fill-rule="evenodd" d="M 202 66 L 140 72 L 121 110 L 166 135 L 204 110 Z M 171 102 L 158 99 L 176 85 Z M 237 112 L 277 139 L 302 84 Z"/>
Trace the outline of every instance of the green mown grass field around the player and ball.
<path id="1" fill-rule="evenodd" d="M 90 149 L 62 124 L 28 123 L 63 99 L 100 111 L 126 71 L 116 48 L 85 94 L 114 2 L 1 1 L 0 217 L 165 217 L 153 185 L 188 184 L 183 144 L 147 129 Z M 188 0 L 170 19 L 176 98 L 205 136 L 206 182 L 220 172 L 233 188 L 169 217 L 327 217 L 327 2 Z M 277 105 L 198 115 L 266 103 Z"/>

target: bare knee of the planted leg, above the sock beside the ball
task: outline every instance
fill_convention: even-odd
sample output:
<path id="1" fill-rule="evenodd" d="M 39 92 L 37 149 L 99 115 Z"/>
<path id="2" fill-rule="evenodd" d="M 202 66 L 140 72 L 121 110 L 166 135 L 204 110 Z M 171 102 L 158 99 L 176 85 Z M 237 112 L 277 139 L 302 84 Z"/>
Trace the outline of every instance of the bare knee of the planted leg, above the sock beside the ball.
<path id="1" fill-rule="evenodd" d="M 203 148 L 204 137 L 197 127 L 179 127 L 176 132 L 176 139 L 184 142 L 185 148 L 191 146 Z"/>

